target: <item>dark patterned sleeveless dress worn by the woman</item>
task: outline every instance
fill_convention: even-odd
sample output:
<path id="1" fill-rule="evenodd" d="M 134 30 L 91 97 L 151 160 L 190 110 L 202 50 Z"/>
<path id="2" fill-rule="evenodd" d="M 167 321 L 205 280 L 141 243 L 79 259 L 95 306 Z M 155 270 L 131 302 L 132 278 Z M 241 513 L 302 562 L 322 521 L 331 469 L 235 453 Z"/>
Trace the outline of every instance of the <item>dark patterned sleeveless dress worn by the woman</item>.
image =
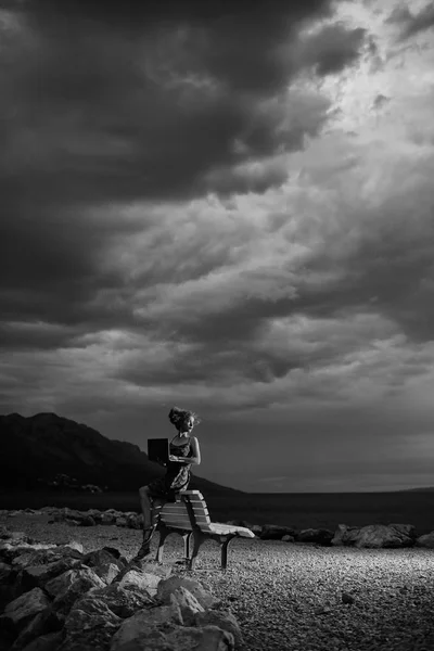
<path id="1" fill-rule="evenodd" d="M 182 445 L 170 442 L 170 455 L 175 457 L 191 457 L 191 438 Z M 149 496 L 167 501 L 176 501 L 176 495 L 180 490 L 187 490 L 191 477 L 191 463 L 186 461 L 168 461 L 166 475 L 158 477 L 149 484 Z"/>

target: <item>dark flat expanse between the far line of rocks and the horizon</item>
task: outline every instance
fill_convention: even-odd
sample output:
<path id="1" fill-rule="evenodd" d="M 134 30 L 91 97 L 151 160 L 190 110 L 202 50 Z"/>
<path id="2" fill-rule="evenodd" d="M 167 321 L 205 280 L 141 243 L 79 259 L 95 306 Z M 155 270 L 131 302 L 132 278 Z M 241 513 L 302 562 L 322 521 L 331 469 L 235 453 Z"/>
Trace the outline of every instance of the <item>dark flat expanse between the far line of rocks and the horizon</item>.
<path id="1" fill-rule="evenodd" d="M 339 524 L 413 524 L 417 535 L 434 531 L 434 493 L 235 493 L 205 495 L 212 520 L 244 520 L 250 524 L 280 524 L 329 528 Z M 118 509 L 139 511 L 135 493 L 0 493 L 0 509 Z"/>

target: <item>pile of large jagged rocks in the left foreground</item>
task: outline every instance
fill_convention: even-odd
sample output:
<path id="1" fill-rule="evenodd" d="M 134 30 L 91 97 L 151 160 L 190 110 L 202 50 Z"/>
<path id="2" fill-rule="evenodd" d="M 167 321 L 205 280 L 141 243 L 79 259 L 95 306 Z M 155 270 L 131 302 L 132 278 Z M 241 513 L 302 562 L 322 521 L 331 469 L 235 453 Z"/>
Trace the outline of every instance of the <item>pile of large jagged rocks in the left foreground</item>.
<path id="1" fill-rule="evenodd" d="M 234 616 L 170 565 L 104 547 L 37 544 L 0 528 L 0 650 L 230 651 Z"/>

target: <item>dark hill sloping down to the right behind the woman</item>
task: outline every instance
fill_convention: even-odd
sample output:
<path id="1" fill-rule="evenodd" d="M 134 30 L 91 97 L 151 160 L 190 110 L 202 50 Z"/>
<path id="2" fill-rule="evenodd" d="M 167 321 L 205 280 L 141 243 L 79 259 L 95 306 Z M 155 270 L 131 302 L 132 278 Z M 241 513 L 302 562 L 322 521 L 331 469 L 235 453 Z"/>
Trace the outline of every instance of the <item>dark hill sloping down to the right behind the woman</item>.
<path id="1" fill-rule="evenodd" d="M 3 488 L 35 488 L 40 485 L 38 480 L 65 473 L 79 484 L 136 490 L 164 472 L 137 445 L 112 441 L 92 427 L 55 413 L 29 418 L 18 413 L 0 416 Z M 194 477 L 191 487 L 207 494 L 238 493 L 201 477 Z"/>

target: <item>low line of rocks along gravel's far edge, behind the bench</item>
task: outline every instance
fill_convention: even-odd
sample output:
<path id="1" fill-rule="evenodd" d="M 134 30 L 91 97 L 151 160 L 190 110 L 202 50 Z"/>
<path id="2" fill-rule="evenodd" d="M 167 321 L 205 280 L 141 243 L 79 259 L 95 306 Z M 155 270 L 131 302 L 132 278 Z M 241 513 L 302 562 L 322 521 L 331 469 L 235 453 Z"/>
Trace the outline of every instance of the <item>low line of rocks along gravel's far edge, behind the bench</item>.
<path id="1" fill-rule="evenodd" d="M 39 511 L 25 509 L 21 511 L 0 511 L 0 516 L 13 518 L 15 515 L 42 515 L 49 516 L 49 523 L 64 522 L 72 526 L 94 526 L 97 524 L 115 525 L 119 527 L 141 529 L 142 515 L 135 511 L 117 511 L 107 509 L 100 511 L 44 507 Z M 327 528 L 295 529 L 290 526 L 277 524 L 252 524 L 245 520 L 230 520 L 227 524 L 245 526 L 261 540 L 283 540 L 299 545 L 318 545 L 321 547 L 346 546 L 367 548 L 404 548 L 425 547 L 434 549 L 434 531 L 417 536 L 412 524 L 369 524 L 367 526 L 347 526 L 340 524 L 332 532 Z"/>

